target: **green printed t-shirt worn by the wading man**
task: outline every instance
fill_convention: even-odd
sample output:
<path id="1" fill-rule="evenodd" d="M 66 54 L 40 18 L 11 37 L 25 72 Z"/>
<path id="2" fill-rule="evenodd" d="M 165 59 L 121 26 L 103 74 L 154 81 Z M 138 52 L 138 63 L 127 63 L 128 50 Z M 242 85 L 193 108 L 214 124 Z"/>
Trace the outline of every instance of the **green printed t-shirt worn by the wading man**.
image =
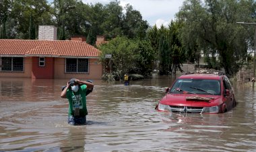
<path id="1" fill-rule="evenodd" d="M 79 108 L 79 116 L 88 114 L 86 108 L 86 88 L 87 85 L 80 85 L 77 92 L 67 89 L 66 97 L 69 100 L 69 116 L 74 116 L 75 108 Z"/>

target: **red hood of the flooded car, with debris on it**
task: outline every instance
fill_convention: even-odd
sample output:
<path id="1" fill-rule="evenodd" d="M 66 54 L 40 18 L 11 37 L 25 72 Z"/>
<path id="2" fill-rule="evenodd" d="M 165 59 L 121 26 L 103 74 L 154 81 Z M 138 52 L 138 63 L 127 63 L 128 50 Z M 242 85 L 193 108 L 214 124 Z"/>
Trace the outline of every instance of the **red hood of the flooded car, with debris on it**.
<path id="1" fill-rule="evenodd" d="M 191 98 L 212 98 L 211 100 L 193 100 Z M 187 100 L 190 98 L 190 100 Z M 160 104 L 170 105 L 170 106 L 192 106 L 192 107 L 209 107 L 218 106 L 222 104 L 222 96 L 216 95 L 195 95 L 195 94 L 180 94 L 180 93 L 167 93 Z"/>

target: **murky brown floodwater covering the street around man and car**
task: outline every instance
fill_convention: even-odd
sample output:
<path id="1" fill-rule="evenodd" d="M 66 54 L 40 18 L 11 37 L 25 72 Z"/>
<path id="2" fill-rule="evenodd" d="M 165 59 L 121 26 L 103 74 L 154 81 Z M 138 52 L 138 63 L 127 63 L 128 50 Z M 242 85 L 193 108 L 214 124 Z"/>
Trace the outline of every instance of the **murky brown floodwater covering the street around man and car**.
<path id="1" fill-rule="evenodd" d="M 154 110 L 172 79 L 94 81 L 88 124 L 67 124 L 67 80 L 0 79 L 0 151 L 256 151 L 256 89 L 224 114 Z M 256 87 L 256 86 L 255 86 Z"/>

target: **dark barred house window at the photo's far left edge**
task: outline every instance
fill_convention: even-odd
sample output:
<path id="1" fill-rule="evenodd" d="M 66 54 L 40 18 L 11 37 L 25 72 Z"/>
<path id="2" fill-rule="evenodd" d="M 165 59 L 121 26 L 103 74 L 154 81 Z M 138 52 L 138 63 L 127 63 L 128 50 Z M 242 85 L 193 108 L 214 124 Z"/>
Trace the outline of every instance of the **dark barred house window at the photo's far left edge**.
<path id="1" fill-rule="evenodd" d="M 1 71 L 23 71 L 22 57 L 2 57 Z"/>

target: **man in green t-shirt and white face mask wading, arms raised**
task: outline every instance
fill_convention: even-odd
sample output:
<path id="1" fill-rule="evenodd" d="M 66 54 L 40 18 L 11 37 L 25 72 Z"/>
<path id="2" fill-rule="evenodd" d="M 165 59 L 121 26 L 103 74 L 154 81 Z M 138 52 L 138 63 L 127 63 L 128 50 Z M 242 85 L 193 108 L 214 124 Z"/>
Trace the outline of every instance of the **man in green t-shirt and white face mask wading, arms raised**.
<path id="1" fill-rule="evenodd" d="M 90 81 L 81 81 L 79 79 L 70 79 L 67 86 L 61 92 L 61 98 L 69 100 L 69 116 L 68 123 L 86 124 L 86 91 L 93 89 L 94 84 Z M 90 93 L 90 92 L 89 92 Z"/>

